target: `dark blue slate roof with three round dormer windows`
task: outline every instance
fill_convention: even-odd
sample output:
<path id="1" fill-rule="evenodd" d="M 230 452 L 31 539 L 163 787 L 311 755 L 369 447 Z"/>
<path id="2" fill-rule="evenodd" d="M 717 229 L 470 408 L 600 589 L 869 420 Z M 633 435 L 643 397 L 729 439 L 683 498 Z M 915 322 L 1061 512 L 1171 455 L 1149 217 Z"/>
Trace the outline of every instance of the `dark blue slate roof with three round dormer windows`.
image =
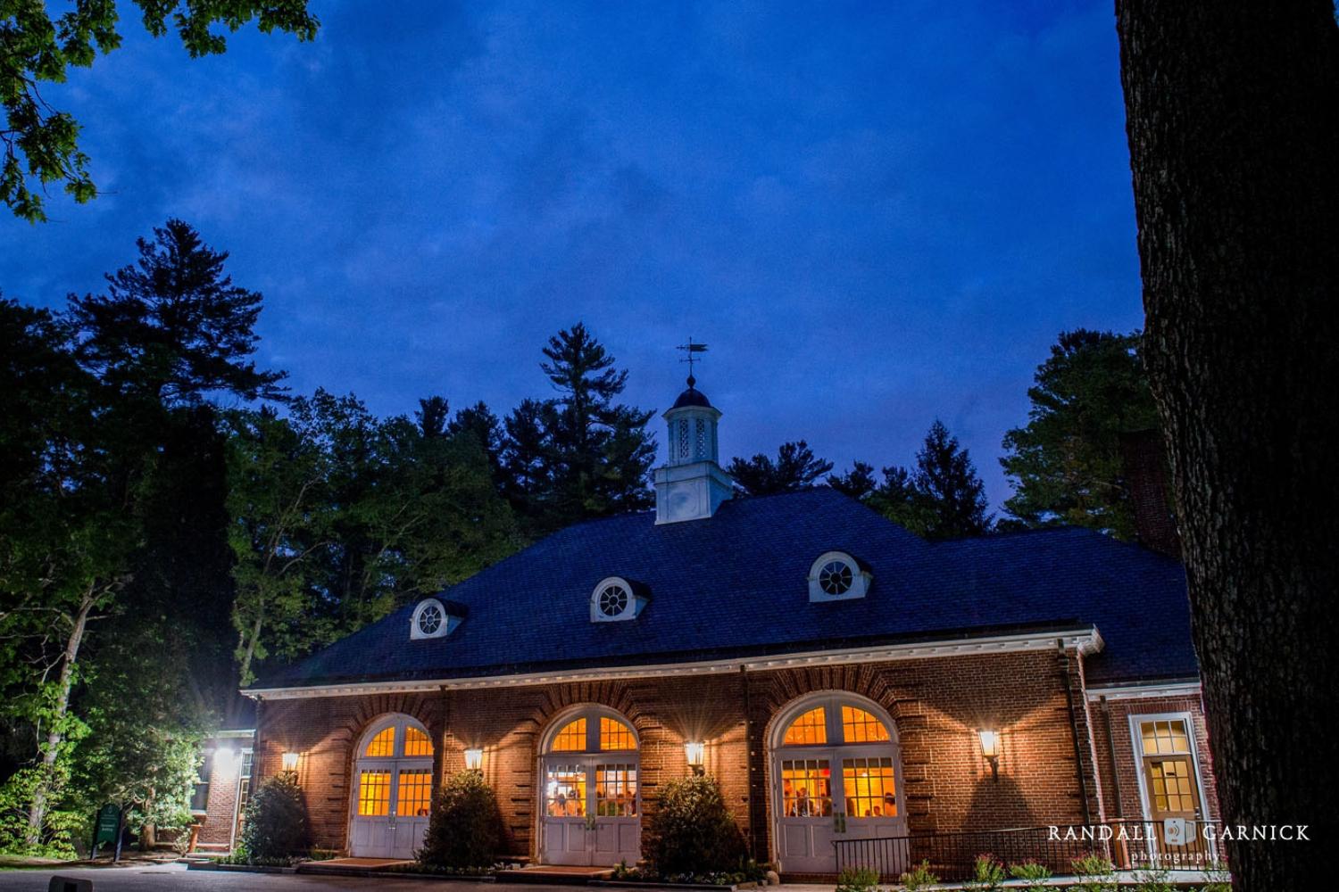
<path id="1" fill-rule="evenodd" d="M 865 598 L 810 603 L 807 574 L 841 550 L 873 572 Z M 605 576 L 645 584 L 628 622 L 590 622 Z M 1007 631 L 1097 626 L 1090 683 L 1198 674 L 1181 564 L 1098 532 L 1054 528 L 927 542 L 818 487 L 726 501 L 714 518 L 653 512 L 576 524 L 442 595 L 446 638 L 410 641 L 407 604 L 254 687 L 470 678 L 663 665 Z"/>

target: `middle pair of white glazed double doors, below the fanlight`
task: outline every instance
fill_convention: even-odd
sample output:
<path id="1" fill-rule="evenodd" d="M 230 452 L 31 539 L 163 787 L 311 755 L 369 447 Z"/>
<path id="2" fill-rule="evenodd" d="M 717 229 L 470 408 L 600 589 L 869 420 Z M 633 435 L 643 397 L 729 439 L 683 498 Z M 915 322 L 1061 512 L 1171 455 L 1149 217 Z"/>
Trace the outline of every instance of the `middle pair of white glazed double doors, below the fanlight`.
<path id="1" fill-rule="evenodd" d="M 542 766 L 545 864 L 636 864 L 641 857 L 637 757 L 548 756 Z"/>

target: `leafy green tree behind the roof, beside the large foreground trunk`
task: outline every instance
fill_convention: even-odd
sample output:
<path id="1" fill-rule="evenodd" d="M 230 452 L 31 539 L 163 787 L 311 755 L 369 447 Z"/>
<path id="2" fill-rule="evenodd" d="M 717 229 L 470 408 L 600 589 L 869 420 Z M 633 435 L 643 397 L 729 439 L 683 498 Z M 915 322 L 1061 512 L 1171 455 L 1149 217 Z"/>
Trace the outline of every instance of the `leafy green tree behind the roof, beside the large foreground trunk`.
<path id="1" fill-rule="evenodd" d="M 1134 539 L 1119 436 L 1157 425 L 1139 336 L 1062 332 L 1038 366 L 1026 427 L 1000 459 L 1015 493 L 1004 510 L 1027 527 L 1073 524 Z"/>

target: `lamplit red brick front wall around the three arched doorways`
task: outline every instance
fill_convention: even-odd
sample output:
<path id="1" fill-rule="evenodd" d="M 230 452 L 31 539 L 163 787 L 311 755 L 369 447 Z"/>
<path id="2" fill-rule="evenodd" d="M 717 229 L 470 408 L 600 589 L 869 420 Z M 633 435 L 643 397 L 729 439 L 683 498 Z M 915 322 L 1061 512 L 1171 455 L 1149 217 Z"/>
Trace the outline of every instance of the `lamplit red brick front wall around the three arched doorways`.
<path id="1" fill-rule="evenodd" d="M 684 741 L 704 740 L 707 772 L 720 780 L 758 857 L 770 859 L 770 734 L 774 717 L 797 698 L 837 690 L 882 706 L 900 740 L 909 829 L 948 832 L 1077 822 L 1085 797 L 1097 817 L 1099 748 L 1089 732 L 1093 718 L 1082 683 L 1075 653 L 1066 659 L 1038 650 L 747 675 L 270 701 L 262 707 L 254 773 L 268 777 L 280 769 L 281 753 L 301 753 L 299 780 L 317 845 L 344 848 L 355 744 L 378 717 L 407 713 L 438 745 L 438 777 L 463 769 L 466 748 L 483 749 L 483 772 L 498 792 L 507 847 L 533 857 L 540 740 L 569 706 L 600 703 L 627 715 L 637 730 L 644 813 L 655 810 L 660 784 L 688 772 Z M 1078 761 L 1066 686 L 1081 736 Z M 1002 732 L 998 781 L 980 756 L 979 728 Z"/>

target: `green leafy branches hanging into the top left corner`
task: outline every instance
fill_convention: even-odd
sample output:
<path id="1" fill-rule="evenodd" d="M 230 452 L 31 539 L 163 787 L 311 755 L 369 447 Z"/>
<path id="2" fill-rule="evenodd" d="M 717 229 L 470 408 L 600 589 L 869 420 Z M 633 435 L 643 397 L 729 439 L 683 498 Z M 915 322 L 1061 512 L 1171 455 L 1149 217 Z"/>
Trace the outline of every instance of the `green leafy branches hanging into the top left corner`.
<path id="1" fill-rule="evenodd" d="M 317 21 L 304 0 L 135 0 L 145 28 L 167 33 L 169 20 L 191 58 L 221 53 L 225 37 L 214 25 L 237 31 L 257 21 L 269 33 L 279 28 L 311 40 Z M 115 3 L 68 4 L 52 15 L 44 3 L 5 4 L 0 17 L 0 99 L 7 124 L 0 128 L 4 162 L 0 201 L 21 219 L 46 221 L 43 195 L 62 183 L 76 202 L 98 194 L 88 156 L 79 150 L 79 123 L 42 98 L 43 83 L 63 83 L 71 66 L 87 68 L 98 53 L 121 45 Z"/>

